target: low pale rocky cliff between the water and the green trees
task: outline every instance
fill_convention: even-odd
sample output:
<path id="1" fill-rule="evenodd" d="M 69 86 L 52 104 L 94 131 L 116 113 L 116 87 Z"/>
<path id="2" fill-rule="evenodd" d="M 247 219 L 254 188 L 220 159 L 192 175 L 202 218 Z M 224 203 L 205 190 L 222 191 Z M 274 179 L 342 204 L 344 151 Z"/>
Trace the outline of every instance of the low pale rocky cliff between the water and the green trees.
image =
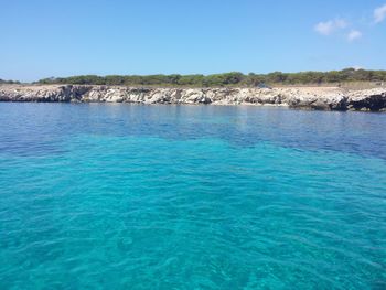
<path id="1" fill-rule="evenodd" d="M 2 85 L 0 101 L 274 105 L 317 110 L 386 111 L 386 88 L 146 88 Z"/>

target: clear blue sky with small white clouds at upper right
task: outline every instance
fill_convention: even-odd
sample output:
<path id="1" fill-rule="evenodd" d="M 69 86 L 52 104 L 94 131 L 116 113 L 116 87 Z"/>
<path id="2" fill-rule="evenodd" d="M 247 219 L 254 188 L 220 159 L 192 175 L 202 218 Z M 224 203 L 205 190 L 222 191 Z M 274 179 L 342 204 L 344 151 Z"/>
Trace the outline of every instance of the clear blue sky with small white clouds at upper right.
<path id="1" fill-rule="evenodd" d="M 0 0 L 0 9 L 3 79 L 386 68 L 386 0 Z"/>

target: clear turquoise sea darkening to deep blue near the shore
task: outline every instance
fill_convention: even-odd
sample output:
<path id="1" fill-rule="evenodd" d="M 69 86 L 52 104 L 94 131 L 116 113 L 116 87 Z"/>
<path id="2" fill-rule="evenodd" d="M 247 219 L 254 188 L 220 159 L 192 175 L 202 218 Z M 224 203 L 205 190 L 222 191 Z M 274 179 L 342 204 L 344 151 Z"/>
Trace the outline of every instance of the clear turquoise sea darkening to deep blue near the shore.
<path id="1" fill-rule="evenodd" d="M 0 289 L 386 289 L 386 115 L 0 104 Z"/>

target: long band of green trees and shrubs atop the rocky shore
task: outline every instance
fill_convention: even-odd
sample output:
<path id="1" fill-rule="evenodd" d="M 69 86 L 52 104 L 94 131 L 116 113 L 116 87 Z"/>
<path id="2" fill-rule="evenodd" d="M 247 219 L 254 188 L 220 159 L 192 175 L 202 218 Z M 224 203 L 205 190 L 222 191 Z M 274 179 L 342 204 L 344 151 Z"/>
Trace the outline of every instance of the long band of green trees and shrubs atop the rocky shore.
<path id="1" fill-rule="evenodd" d="M 37 84 L 73 84 L 73 85 L 125 85 L 125 86 L 191 86 L 191 87 L 222 87 L 243 86 L 253 87 L 261 83 L 275 85 L 323 85 L 353 82 L 386 82 L 386 71 L 365 71 L 346 68 L 332 72 L 302 72 L 248 75 L 233 72 L 215 75 L 81 75 L 72 77 L 44 78 Z"/>

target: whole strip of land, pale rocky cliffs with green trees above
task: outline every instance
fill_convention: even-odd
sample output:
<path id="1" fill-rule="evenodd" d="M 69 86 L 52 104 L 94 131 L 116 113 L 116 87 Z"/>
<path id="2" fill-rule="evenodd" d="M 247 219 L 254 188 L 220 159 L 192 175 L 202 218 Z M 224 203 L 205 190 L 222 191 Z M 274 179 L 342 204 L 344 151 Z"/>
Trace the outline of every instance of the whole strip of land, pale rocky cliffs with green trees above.
<path id="1" fill-rule="evenodd" d="M 81 75 L 0 79 L 0 101 L 272 105 L 386 111 L 386 71 L 215 75 Z"/>

